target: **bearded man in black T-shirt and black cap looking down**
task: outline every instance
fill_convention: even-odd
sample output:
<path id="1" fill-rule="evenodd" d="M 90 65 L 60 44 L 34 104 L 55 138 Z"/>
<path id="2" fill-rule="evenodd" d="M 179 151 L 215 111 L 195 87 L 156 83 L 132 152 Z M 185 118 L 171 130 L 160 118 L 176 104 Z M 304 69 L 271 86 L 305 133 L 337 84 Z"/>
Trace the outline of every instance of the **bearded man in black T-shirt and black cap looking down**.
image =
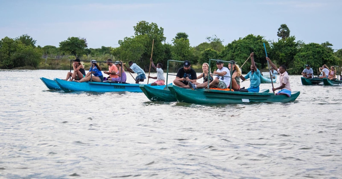
<path id="1" fill-rule="evenodd" d="M 189 88 L 189 82 L 195 83 L 197 80 L 197 74 L 194 69 L 191 68 L 189 60 L 185 60 L 183 67 L 178 69 L 176 79 L 173 80 L 173 84 L 182 88 Z"/>

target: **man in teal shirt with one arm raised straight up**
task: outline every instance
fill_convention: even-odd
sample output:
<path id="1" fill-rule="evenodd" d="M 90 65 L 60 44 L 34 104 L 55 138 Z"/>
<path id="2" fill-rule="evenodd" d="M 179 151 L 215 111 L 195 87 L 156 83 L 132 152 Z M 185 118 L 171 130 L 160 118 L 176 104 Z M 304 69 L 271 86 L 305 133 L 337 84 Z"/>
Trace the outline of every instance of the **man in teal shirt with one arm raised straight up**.
<path id="1" fill-rule="evenodd" d="M 257 64 L 255 64 L 254 62 L 254 53 L 251 53 L 251 62 L 251 71 L 249 71 L 245 76 L 240 75 L 240 78 L 242 79 L 242 81 L 250 78 L 250 85 L 249 88 L 247 88 L 248 92 L 259 92 L 260 71 L 257 68 Z"/>

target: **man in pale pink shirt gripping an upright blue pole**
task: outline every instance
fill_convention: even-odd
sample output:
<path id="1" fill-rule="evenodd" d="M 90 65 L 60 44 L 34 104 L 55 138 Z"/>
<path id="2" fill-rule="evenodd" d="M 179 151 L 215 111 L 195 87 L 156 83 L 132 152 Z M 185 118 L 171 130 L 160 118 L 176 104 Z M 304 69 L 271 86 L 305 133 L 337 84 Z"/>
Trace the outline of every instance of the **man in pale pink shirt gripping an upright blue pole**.
<path id="1" fill-rule="evenodd" d="M 271 59 L 266 57 L 266 60 L 274 69 L 277 69 L 278 73 L 280 74 L 279 76 L 280 86 L 277 88 L 272 88 L 272 91 L 280 89 L 279 92 L 275 93 L 276 95 L 287 95 L 290 97 L 291 96 L 290 76 L 286 71 L 286 66 L 280 65 L 279 68 L 277 68 L 277 66 L 273 64 Z"/>

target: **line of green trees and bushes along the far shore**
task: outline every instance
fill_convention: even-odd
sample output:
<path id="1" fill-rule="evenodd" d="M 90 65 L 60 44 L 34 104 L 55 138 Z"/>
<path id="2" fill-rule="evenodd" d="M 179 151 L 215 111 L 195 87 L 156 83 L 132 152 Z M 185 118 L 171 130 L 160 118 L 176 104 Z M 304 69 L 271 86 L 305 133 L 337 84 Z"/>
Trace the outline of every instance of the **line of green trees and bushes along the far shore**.
<path id="1" fill-rule="evenodd" d="M 42 55 L 64 56 L 72 55 L 81 60 L 100 56 L 111 56 L 113 60 L 123 62 L 134 61 L 145 71 L 149 70 L 149 58 L 153 46 L 153 59 L 164 64 L 167 60 L 189 60 L 192 64 L 202 64 L 209 59 L 235 60 L 240 66 L 246 61 L 251 52 L 254 52 L 254 60 L 259 69 L 267 68 L 265 60 L 266 45 L 267 55 L 278 65 L 286 65 L 291 68 L 290 74 L 300 74 L 305 64 L 310 64 L 313 69 L 323 64 L 342 65 L 342 49 L 334 52 L 332 44 L 321 44 L 296 41 L 294 35 L 290 35 L 290 29 L 286 24 L 281 24 L 278 31 L 278 41 L 267 41 L 264 36 L 249 34 L 244 38 L 234 40 L 223 45 L 223 40 L 216 35 L 208 36 L 206 42 L 195 47 L 190 46 L 188 35 L 179 32 L 172 39 L 172 43 L 166 43 L 164 29 L 156 23 L 139 21 L 134 28 L 134 35 L 119 40 L 119 47 L 88 48 L 86 38 L 69 37 L 59 43 L 59 47 L 47 45 L 35 46 L 36 40 L 28 34 L 15 39 L 4 37 L 0 41 L 0 68 L 12 69 L 21 66 L 33 66 L 39 68 Z M 178 68 L 181 64 L 173 64 Z M 215 68 L 212 64 L 211 68 Z M 242 71 L 250 70 L 250 61 L 243 66 Z"/>

